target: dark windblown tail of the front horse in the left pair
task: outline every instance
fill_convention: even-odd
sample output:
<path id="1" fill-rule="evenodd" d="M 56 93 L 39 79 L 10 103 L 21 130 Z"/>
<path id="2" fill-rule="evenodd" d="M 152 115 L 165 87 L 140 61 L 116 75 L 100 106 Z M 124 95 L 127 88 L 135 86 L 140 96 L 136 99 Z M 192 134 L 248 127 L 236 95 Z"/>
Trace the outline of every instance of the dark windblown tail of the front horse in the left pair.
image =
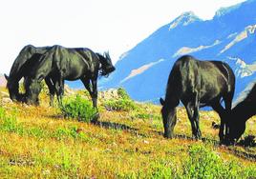
<path id="1" fill-rule="evenodd" d="M 109 52 L 104 52 L 104 56 L 96 53 L 98 58 L 99 58 L 99 62 L 101 64 L 101 75 L 102 76 L 107 76 L 108 74 L 110 74 L 111 72 L 113 72 L 114 70 L 116 70 L 116 68 L 113 66 L 112 64 L 112 60 L 110 58 Z"/>

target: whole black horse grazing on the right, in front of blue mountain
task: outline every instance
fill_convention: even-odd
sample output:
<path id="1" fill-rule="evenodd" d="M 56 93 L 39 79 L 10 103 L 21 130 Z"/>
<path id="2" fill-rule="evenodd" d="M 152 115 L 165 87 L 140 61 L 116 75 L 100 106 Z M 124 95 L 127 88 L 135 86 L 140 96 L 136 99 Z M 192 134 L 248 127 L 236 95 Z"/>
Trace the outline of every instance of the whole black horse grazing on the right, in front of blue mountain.
<path id="1" fill-rule="evenodd" d="M 193 137 L 202 137 L 199 109 L 210 106 L 220 115 L 219 136 L 221 142 L 224 141 L 224 128 L 227 128 L 225 115 L 231 110 L 234 89 L 235 75 L 224 62 L 200 61 L 193 56 L 181 56 L 169 75 L 165 101 L 160 98 L 164 137 L 173 137 L 177 121 L 176 107 L 181 100 L 191 123 Z M 222 98 L 225 109 L 221 105 Z"/>

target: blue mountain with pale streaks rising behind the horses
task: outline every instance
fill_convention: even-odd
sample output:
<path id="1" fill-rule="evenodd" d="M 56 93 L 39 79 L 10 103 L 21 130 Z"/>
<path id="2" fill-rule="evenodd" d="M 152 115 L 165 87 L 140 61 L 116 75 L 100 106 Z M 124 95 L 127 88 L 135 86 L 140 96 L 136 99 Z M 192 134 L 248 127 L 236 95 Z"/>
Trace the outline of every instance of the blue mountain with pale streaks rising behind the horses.
<path id="1" fill-rule="evenodd" d="M 139 101 L 164 95 L 169 72 L 183 54 L 227 62 L 237 76 L 236 94 L 256 78 L 256 0 L 218 10 L 211 20 L 189 11 L 121 55 L 101 89 L 123 87 Z"/>

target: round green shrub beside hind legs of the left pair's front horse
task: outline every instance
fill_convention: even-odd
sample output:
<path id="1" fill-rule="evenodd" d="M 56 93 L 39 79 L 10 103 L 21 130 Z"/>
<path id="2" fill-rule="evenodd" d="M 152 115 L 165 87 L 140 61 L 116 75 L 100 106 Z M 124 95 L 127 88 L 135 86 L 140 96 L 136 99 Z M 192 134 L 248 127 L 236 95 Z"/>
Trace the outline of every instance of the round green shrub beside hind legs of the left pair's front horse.
<path id="1" fill-rule="evenodd" d="M 97 110 L 93 108 L 91 101 L 87 101 L 80 95 L 65 98 L 60 109 L 65 117 L 76 118 L 83 122 L 90 122 L 97 115 Z"/>

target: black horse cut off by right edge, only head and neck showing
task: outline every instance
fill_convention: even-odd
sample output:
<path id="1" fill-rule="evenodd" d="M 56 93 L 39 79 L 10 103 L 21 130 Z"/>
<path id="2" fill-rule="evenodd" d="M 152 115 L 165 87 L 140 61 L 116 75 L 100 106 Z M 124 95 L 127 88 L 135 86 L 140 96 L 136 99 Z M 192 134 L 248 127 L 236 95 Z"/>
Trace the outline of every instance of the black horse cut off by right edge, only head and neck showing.
<path id="1" fill-rule="evenodd" d="M 245 132 L 246 121 L 256 114 L 256 84 L 249 91 L 243 101 L 235 106 L 228 116 L 229 141 L 231 143 L 238 140 Z"/>

